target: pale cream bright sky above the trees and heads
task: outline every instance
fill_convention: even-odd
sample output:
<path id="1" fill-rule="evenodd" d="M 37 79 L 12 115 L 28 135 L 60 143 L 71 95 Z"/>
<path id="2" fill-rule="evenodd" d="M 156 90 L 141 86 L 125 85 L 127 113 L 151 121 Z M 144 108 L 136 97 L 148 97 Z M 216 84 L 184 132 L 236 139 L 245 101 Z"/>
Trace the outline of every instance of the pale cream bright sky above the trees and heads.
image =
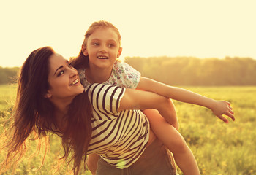
<path id="1" fill-rule="evenodd" d="M 256 59 L 255 7 L 255 0 L 1 0 L 0 66 L 21 66 L 46 45 L 78 55 L 97 20 L 119 29 L 123 58 Z"/>

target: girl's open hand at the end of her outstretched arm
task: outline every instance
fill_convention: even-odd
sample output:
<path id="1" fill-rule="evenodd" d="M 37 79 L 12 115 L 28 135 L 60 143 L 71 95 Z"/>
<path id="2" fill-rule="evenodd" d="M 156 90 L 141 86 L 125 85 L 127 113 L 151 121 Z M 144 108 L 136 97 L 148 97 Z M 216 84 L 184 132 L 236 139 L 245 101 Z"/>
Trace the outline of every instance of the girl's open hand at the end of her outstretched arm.
<path id="1" fill-rule="evenodd" d="M 230 106 L 230 102 L 228 101 L 214 100 L 211 111 L 214 113 L 214 115 L 216 115 L 220 120 L 225 123 L 228 123 L 228 120 L 223 117 L 223 114 L 227 115 L 227 117 L 230 117 L 233 121 L 235 121 L 234 112 L 232 110 L 232 107 Z"/>

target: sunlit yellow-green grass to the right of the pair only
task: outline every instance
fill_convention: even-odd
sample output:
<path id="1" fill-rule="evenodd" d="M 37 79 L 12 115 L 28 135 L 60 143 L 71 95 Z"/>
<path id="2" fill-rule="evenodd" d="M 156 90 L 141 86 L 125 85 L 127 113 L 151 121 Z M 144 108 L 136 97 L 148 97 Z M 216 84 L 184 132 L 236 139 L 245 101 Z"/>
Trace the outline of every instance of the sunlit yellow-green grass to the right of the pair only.
<path id="1" fill-rule="evenodd" d="M 223 123 L 209 109 L 174 101 L 180 132 L 192 149 L 201 174 L 256 174 L 256 87 L 187 89 L 230 101 L 236 117 L 235 122 Z"/>

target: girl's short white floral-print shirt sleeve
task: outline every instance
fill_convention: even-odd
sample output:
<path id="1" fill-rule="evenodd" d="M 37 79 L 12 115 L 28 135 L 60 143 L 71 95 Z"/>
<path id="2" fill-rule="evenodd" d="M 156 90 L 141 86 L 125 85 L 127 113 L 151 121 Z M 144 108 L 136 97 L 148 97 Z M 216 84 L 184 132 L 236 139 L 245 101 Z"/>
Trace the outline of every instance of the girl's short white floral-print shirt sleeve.
<path id="1" fill-rule="evenodd" d="M 127 63 L 116 61 L 113 66 L 113 73 L 108 81 L 112 85 L 135 89 L 140 82 L 140 72 Z"/>

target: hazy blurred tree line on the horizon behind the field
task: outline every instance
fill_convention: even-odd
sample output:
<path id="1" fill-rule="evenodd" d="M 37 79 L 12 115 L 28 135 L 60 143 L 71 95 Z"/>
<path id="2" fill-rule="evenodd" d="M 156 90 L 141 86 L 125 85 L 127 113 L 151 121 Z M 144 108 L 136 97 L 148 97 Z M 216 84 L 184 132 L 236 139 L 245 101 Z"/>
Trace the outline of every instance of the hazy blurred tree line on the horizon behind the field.
<path id="1" fill-rule="evenodd" d="M 125 62 L 143 77 L 167 85 L 256 85 L 256 60 L 252 58 L 127 57 Z M 0 66 L 0 84 L 15 82 L 18 70 Z"/>

